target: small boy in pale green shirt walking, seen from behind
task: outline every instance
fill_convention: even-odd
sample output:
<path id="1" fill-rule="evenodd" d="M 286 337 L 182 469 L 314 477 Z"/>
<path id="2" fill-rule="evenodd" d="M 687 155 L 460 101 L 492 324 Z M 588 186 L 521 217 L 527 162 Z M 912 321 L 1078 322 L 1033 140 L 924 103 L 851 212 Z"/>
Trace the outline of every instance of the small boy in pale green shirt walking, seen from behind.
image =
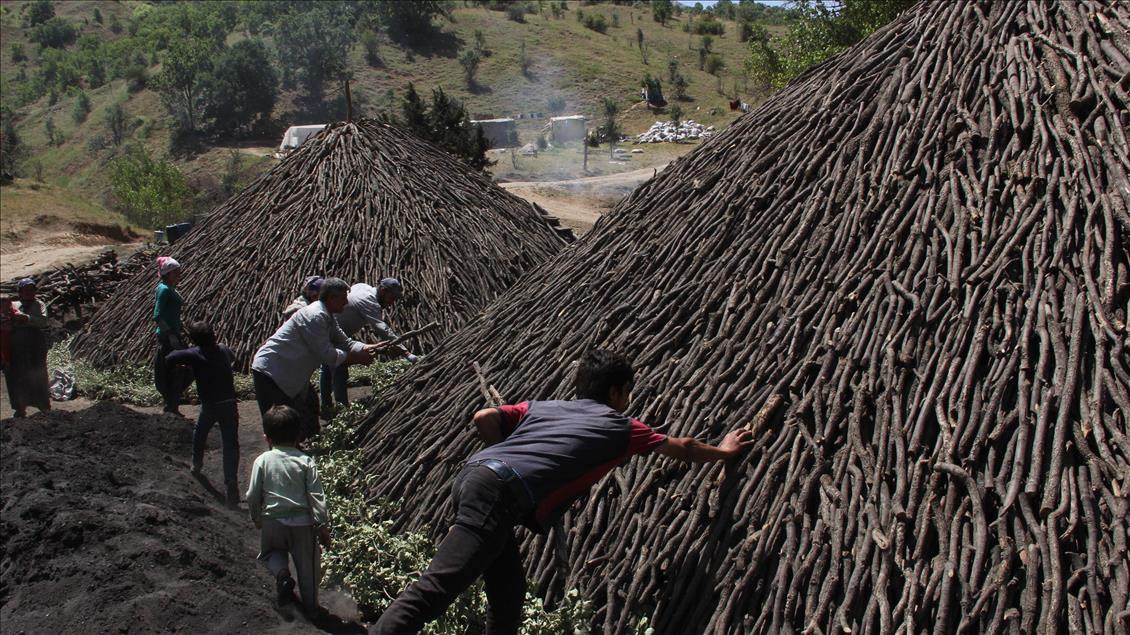
<path id="1" fill-rule="evenodd" d="M 275 406 L 263 414 L 263 434 L 271 449 L 255 459 L 247 487 L 247 510 L 260 530 L 259 562 L 275 576 L 280 604 L 295 601 L 294 559 L 302 604 L 318 610 L 320 541 L 330 546 L 325 493 L 314 460 L 295 447 L 302 417 L 289 406 Z"/>

